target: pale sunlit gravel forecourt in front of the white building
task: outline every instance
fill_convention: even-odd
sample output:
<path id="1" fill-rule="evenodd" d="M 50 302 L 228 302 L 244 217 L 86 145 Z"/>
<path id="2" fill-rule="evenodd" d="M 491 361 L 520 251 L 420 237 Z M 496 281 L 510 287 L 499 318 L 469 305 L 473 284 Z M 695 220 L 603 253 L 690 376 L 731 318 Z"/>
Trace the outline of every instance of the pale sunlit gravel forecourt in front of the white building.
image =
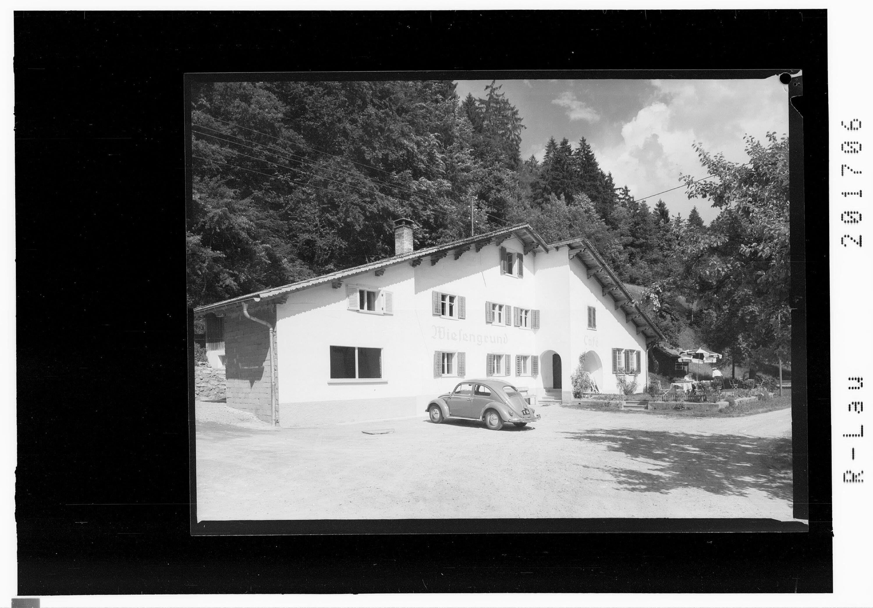
<path id="1" fill-rule="evenodd" d="M 724 419 L 537 412 L 500 431 L 425 412 L 279 428 L 197 402 L 197 519 L 793 520 L 790 408 Z"/>

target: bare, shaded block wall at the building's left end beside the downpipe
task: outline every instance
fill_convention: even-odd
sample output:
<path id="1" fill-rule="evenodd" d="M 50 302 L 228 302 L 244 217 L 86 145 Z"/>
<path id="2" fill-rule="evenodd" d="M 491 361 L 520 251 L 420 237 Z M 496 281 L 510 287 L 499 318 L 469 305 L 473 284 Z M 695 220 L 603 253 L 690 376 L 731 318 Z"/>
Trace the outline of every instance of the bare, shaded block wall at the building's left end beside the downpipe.
<path id="1" fill-rule="evenodd" d="M 249 313 L 275 326 L 275 306 L 250 307 Z M 224 318 L 227 405 L 254 413 L 265 422 L 271 418 L 269 341 L 270 330 L 265 325 L 242 314 Z M 278 366 L 278 351 L 273 358 Z M 278 384 L 276 391 L 278 404 Z"/>

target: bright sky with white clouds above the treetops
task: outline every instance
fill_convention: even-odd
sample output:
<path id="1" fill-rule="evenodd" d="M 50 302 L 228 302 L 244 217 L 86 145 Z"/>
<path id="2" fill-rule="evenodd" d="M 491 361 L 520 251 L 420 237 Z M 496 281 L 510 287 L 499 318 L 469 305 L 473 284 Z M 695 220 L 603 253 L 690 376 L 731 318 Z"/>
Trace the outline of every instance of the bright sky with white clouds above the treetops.
<path id="1" fill-rule="evenodd" d="M 491 80 L 457 81 L 461 99 L 485 96 Z M 647 198 L 680 184 L 680 174 L 705 177 L 692 148 L 746 162 L 743 135 L 763 140 L 768 131 L 788 133 L 788 94 L 778 76 L 759 80 L 498 80 L 519 109 L 526 128 L 521 157 L 540 161 L 546 141 L 584 137 L 616 187 L 653 207 L 660 198 L 670 215 L 688 217 L 693 206 L 709 223 L 718 209 L 689 200 L 685 188 Z"/>

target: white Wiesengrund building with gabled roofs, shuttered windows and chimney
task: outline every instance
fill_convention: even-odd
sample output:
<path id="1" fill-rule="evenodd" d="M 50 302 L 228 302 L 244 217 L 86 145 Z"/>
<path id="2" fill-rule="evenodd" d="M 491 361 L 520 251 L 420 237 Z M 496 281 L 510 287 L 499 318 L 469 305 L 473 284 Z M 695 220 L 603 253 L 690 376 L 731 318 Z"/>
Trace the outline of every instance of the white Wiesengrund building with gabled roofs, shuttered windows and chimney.
<path id="1" fill-rule="evenodd" d="M 395 222 L 393 257 L 197 308 L 228 404 L 283 427 L 380 420 L 494 375 L 567 401 L 582 353 L 601 392 L 620 368 L 643 390 L 663 334 L 586 239 L 522 224 L 413 250 L 412 230 Z"/>

